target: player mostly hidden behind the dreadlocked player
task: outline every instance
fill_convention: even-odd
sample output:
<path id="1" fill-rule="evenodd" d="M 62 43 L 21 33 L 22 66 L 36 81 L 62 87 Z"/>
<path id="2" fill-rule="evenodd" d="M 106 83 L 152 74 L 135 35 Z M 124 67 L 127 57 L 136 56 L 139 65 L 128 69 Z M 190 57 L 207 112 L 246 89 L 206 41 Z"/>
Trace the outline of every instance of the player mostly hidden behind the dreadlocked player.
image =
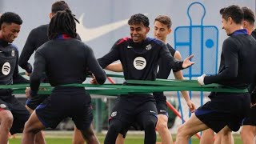
<path id="1" fill-rule="evenodd" d="M 68 4 L 64 1 L 56 1 L 51 6 L 51 13 L 49 14 L 49 17 L 52 18 L 54 14 L 56 14 L 58 11 L 62 10 L 70 10 L 70 7 Z M 26 44 L 22 49 L 22 54 L 20 55 L 18 65 L 21 66 L 24 70 L 26 70 L 26 75 L 30 75 L 32 72 L 32 66 L 28 62 L 30 59 L 30 56 L 34 53 L 35 50 L 38 49 L 39 46 L 42 46 L 43 43 L 47 42 L 49 40 L 47 36 L 47 29 L 49 24 L 38 26 L 37 28 L 34 28 L 30 31 L 30 34 L 28 38 L 26 39 Z M 78 36 L 78 39 L 80 37 Z M 43 74 L 41 78 L 41 82 L 48 83 L 48 78 L 46 78 L 46 74 Z M 26 90 L 29 91 L 30 89 Z M 26 102 L 26 108 L 32 113 L 34 109 L 43 102 L 49 95 L 48 94 L 40 94 L 37 96 L 34 96 L 33 98 L 28 98 Z M 42 137 L 42 133 L 38 133 L 38 136 L 36 138 L 37 141 L 44 140 Z M 95 136 L 94 136 L 95 137 Z M 84 139 L 82 138 L 82 134 L 79 130 L 74 128 L 74 138 L 73 143 L 79 144 L 84 143 Z"/>

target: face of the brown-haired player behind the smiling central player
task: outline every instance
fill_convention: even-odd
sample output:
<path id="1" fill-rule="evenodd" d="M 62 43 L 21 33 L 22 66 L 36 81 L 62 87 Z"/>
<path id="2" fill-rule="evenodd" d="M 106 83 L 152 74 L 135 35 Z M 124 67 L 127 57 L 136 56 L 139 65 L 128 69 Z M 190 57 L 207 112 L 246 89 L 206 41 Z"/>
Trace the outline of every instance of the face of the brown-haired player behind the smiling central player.
<path id="1" fill-rule="evenodd" d="M 166 37 L 170 34 L 171 29 L 168 28 L 162 22 L 155 21 L 154 22 L 154 38 L 158 38 L 162 41 L 166 41 Z"/>

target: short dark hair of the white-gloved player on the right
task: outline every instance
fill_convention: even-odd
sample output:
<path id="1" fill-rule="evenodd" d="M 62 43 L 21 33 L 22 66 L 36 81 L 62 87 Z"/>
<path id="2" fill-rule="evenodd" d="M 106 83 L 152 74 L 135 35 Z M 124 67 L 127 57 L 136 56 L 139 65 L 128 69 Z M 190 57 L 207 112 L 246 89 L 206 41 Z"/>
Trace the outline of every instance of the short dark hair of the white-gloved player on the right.
<path id="1" fill-rule="evenodd" d="M 243 20 L 243 11 L 237 5 L 231 5 L 219 10 L 219 13 L 222 14 L 222 18 L 227 20 L 229 17 L 233 19 L 236 24 L 242 24 Z"/>

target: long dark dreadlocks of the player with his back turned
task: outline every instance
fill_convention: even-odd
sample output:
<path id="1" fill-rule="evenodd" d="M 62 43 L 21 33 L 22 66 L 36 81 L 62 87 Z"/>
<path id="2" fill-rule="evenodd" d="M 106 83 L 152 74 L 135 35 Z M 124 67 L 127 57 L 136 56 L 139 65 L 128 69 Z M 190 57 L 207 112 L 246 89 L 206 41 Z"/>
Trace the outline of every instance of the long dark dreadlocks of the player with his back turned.
<path id="1" fill-rule="evenodd" d="M 67 34 L 71 38 L 77 38 L 74 15 L 70 10 L 58 11 L 50 19 L 48 27 L 48 38 L 54 39 L 58 34 Z"/>

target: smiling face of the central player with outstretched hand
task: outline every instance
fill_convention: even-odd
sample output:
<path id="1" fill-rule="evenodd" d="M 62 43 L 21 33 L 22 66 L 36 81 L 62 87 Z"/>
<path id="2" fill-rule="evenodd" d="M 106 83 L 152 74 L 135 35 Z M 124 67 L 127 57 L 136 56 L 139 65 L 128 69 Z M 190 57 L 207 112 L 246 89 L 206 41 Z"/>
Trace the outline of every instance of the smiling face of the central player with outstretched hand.
<path id="1" fill-rule="evenodd" d="M 146 34 L 150 31 L 149 27 L 144 26 L 143 24 L 139 25 L 130 25 L 130 37 L 134 42 L 142 42 L 146 39 Z"/>

